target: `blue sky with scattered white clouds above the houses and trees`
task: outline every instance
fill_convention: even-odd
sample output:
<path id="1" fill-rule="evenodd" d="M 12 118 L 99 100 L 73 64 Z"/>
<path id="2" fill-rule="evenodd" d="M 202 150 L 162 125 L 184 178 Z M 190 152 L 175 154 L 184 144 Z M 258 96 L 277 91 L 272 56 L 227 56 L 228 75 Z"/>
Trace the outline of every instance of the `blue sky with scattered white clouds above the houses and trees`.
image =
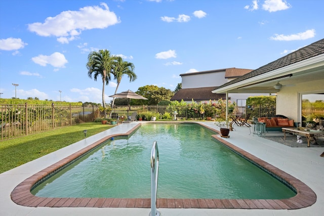
<path id="1" fill-rule="evenodd" d="M 91 51 L 107 49 L 135 65 L 117 92 L 179 74 L 257 69 L 324 37 L 324 1 L 308 0 L 3 0 L 2 98 L 101 103 L 102 82 L 88 77 Z M 105 87 L 106 102 L 116 82 Z M 61 93 L 59 92 L 61 91 Z"/>

